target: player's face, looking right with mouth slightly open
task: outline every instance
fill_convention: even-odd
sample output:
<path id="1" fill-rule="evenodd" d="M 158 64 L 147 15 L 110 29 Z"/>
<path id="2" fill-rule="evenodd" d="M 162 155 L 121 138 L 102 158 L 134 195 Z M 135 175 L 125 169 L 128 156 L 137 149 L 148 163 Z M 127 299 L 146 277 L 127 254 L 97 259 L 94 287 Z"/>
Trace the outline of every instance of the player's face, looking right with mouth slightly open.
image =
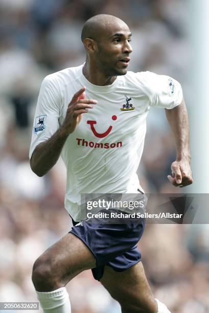
<path id="1" fill-rule="evenodd" d="M 130 61 L 131 33 L 127 25 L 110 25 L 97 41 L 95 55 L 98 68 L 107 75 L 125 75 Z"/>

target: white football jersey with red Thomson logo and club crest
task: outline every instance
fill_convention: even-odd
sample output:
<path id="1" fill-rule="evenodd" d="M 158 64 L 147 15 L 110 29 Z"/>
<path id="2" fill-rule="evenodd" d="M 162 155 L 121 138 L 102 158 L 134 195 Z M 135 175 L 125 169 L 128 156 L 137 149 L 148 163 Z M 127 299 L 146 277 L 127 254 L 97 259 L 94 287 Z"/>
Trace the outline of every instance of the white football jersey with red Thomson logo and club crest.
<path id="1" fill-rule="evenodd" d="M 86 86 L 98 104 L 82 115 L 61 152 L 67 169 L 65 208 L 80 221 L 81 193 L 137 193 L 146 117 L 151 106 L 172 109 L 182 101 L 179 82 L 151 72 L 127 72 L 107 86 L 91 84 L 83 65 L 44 78 L 38 97 L 30 158 L 63 123 L 73 95 Z"/>

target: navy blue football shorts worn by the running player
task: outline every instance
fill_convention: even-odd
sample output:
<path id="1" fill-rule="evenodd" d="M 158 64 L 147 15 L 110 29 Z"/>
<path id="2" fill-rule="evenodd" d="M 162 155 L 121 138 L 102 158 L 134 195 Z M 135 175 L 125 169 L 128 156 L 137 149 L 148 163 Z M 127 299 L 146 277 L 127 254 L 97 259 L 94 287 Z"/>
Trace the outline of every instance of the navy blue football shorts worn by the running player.
<path id="1" fill-rule="evenodd" d="M 100 212 L 103 211 L 107 212 Z M 144 218 L 120 218 L 120 223 L 88 218 L 81 222 L 73 220 L 73 225 L 70 233 L 80 238 L 97 260 L 97 266 L 91 270 L 95 279 L 102 278 L 105 265 L 116 272 L 123 272 L 141 261 L 136 244 L 144 232 Z"/>

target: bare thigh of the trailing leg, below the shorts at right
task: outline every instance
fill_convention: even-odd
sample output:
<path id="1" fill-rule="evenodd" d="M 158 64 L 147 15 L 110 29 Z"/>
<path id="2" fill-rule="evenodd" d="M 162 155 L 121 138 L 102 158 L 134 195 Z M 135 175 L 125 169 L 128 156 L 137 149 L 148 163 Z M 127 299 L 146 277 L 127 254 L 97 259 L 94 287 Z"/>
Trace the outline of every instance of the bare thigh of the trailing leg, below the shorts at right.
<path id="1" fill-rule="evenodd" d="M 123 272 L 105 266 L 101 283 L 122 307 L 122 312 L 157 312 L 157 304 L 147 282 L 142 262 Z"/>

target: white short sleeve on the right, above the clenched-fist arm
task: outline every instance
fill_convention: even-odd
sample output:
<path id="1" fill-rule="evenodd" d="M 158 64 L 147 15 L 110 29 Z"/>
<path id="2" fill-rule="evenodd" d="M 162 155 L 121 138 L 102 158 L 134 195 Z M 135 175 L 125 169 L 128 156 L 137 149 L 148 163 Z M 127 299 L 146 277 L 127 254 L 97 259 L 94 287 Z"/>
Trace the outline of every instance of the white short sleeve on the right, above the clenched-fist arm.
<path id="1" fill-rule="evenodd" d="M 172 109 L 181 103 L 183 93 L 177 80 L 151 72 L 144 72 L 144 74 L 147 76 L 147 90 L 151 106 Z"/>

